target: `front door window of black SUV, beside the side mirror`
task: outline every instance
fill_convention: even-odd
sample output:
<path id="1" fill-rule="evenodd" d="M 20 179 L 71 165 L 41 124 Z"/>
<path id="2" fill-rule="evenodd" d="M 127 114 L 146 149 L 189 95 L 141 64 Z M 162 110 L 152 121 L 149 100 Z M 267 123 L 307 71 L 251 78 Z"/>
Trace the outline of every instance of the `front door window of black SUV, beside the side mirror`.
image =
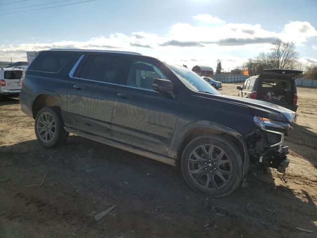
<path id="1" fill-rule="evenodd" d="M 126 85 L 153 89 L 152 83 L 155 78 L 167 79 L 154 64 L 141 60 L 133 60 Z"/>

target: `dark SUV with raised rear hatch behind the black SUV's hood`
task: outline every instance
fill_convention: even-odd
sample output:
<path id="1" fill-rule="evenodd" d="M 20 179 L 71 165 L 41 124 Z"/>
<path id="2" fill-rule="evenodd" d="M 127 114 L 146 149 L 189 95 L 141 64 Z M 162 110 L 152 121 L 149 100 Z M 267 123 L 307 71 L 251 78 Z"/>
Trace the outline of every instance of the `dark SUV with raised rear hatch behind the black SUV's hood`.
<path id="1" fill-rule="evenodd" d="M 297 89 L 295 78 L 303 71 L 291 69 L 264 69 L 260 75 L 248 78 L 238 96 L 258 99 L 297 110 Z"/>

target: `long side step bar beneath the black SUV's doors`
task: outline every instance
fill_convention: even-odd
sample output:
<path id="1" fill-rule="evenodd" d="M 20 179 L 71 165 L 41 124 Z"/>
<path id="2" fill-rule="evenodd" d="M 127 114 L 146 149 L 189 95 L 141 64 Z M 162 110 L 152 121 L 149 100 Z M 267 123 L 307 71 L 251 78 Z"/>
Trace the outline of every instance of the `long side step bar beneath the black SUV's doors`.
<path id="1" fill-rule="evenodd" d="M 159 162 L 162 162 L 162 163 L 165 163 L 168 165 L 176 166 L 176 160 L 173 158 L 165 157 L 162 155 L 157 155 L 155 153 L 145 151 L 145 150 L 136 148 L 136 147 L 131 146 L 131 145 L 119 143 L 119 142 L 116 142 L 116 141 L 113 141 L 110 139 L 106 139 L 106 138 L 98 136 L 98 135 L 92 135 L 92 134 L 89 134 L 89 133 L 86 133 L 86 132 L 83 132 L 80 130 L 72 129 L 72 128 L 67 127 L 67 126 L 64 126 L 64 129 L 69 133 L 73 133 L 75 135 L 79 135 L 79 136 L 85 137 L 85 138 L 90 139 L 90 140 L 95 140 L 95 141 L 101 142 L 103 144 L 119 148 L 121 150 L 126 150 L 126 151 L 132 152 L 134 154 L 148 157 L 150 159 L 157 160 Z"/>

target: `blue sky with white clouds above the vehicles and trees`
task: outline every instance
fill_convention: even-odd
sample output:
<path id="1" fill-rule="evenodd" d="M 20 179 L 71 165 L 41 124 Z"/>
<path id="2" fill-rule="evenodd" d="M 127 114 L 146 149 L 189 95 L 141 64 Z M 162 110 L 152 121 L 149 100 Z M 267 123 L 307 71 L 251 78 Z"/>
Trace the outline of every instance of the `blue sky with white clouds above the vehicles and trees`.
<path id="1" fill-rule="evenodd" d="M 0 0 L 0 61 L 81 48 L 190 68 L 220 59 L 228 71 L 281 39 L 296 43 L 301 62 L 317 63 L 316 12 L 317 0 Z"/>

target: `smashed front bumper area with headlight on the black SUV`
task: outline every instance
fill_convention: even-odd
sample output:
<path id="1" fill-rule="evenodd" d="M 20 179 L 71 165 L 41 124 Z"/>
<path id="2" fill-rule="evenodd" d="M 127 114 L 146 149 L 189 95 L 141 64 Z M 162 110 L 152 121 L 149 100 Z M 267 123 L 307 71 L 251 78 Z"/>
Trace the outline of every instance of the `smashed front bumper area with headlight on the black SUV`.
<path id="1" fill-rule="evenodd" d="M 285 173 L 289 165 L 288 146 L 283 146 L 284 135 L 292 126 L 265 118 L 254 118 L 258 129 L 245 136 L 251 164 L 259 171 L 267 167 Z"/>

